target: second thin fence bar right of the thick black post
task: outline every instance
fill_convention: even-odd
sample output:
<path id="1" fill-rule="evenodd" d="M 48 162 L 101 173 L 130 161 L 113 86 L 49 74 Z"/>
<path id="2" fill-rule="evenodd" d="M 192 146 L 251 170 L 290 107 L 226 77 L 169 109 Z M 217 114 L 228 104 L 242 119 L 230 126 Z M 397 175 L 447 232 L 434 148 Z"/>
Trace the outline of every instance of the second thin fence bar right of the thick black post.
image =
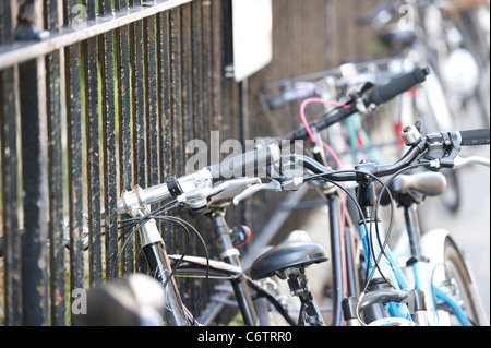
<path id="1" fill-rule="evenodd" d="M 70 25 L 72 9 L 77 0 L 69 0 L 63 8 L 64 23 Z M 65 48 L 67 79 L 67 125 L 69 159 L 69 213 L 70 213 L 70 291 L 83 288 L 84 260 L 82 242 L 83 201 L 82 201 L 82 95 L 81 95 L 81 44 Z M 71 299 L 71 323 L 74 322 L 74 297 Z"/>

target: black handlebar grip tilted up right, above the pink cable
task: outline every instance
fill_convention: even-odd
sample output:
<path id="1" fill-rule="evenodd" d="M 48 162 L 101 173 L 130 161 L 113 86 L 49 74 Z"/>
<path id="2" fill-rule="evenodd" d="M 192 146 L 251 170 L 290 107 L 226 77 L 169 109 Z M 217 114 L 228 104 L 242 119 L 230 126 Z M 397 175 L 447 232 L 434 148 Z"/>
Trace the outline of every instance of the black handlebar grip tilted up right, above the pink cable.
<path id="1" fill-rule="evenodd" d="M 369 104 L 380 105 L 395 96 L 410 91 L 417 84 L 423 82 L 430 73 L 428 68 L 416 68 L 412 72 L 391 80 L 386 85 L 373 88 Z"/>

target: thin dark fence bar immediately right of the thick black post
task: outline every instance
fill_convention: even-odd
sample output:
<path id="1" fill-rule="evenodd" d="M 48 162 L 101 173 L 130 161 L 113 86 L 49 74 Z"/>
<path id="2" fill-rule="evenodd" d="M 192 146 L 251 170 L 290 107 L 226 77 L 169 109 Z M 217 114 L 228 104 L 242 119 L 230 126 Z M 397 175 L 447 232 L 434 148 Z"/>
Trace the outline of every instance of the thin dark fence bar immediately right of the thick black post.
<path id="1" fill-rule="evenodd" d="M 58 31 L 58 1 L 47 0 L 45 27 Z M 50 320 L 51 325 L 64 325 L 64 245 L 63 245 L 63 153 L 61 143 L 60 52 L 46 57 L 48 76 L 48 188 L 50 249 Z"/>

